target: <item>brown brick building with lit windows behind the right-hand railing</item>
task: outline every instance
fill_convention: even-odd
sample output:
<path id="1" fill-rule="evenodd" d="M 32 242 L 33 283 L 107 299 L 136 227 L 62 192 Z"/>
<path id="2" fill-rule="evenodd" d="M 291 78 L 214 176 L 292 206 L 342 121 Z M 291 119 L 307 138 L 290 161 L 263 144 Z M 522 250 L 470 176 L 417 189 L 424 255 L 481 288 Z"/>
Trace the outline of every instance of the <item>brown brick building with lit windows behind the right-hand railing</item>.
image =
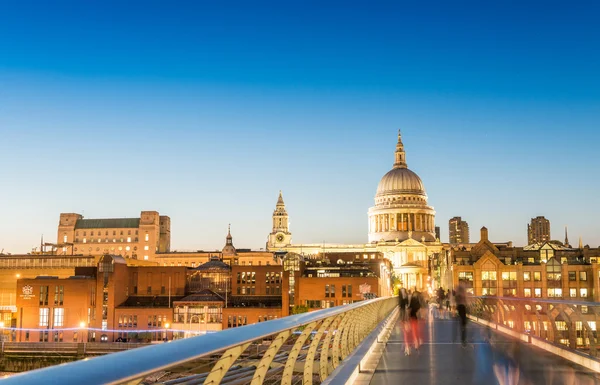
<path id="1" fill-rule="evenodd" d="M 451 249 L 453 286 L 471 294 L 576 301 L 600 299 L 600 249 L 559 242 L 526 247 L 493 244 L 488 230 L 470 249 Z"/>

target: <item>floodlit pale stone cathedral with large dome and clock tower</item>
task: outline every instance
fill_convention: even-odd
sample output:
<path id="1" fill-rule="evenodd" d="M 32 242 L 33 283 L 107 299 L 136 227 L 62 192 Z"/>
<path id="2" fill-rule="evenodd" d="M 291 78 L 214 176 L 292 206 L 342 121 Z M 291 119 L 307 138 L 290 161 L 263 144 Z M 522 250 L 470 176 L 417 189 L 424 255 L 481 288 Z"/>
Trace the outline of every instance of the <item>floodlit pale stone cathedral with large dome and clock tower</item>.
<path id="1" fill-rule="evenodd" d="M 393 167 L 379 182 L 375 205 L 368 210 L 368 224 L 368 242 L 364 244 L 294 244 L 280 192 L 267 249 L 294 253 L 305 259 L 326 259 L 328 254 L 343 252 L 354 253 L 357 260 L 364 260 L 382 253 L 393 266 L 393 272 L 382 266 L 382 278 L 386 275 L 390 278 L 393 273 L 405 287 L 433 288 L 434 266 L 443 245 L 435 237 L 435 211 L 428 205 L 423 182 L 407 166 L 400 132 Z"/>

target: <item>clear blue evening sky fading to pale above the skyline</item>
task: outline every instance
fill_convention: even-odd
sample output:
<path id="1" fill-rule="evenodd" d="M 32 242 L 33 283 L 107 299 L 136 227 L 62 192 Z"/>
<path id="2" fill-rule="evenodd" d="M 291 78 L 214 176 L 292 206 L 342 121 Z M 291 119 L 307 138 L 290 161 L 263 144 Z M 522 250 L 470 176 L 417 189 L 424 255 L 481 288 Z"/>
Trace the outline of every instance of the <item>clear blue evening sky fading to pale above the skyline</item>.
<path id="1" fill-rule="evenodd" d="M 0 249 L 59 214 L 171 218 L 177 250 L 363 243 L 394 161 L 441 240 L 600 246 L 597 1 L 0 1 Z"/>

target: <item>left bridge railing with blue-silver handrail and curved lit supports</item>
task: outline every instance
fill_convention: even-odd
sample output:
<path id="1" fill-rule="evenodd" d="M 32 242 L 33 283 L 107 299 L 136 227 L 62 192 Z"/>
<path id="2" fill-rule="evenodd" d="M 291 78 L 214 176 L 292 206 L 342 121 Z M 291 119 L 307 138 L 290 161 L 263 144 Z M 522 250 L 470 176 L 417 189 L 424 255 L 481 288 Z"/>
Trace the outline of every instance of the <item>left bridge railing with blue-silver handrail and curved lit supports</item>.
<path id="1" fill-rule="evenodd" d="M 397 306 L 377 298 L 19 374 L 3 385 L 320 383 Z"/>

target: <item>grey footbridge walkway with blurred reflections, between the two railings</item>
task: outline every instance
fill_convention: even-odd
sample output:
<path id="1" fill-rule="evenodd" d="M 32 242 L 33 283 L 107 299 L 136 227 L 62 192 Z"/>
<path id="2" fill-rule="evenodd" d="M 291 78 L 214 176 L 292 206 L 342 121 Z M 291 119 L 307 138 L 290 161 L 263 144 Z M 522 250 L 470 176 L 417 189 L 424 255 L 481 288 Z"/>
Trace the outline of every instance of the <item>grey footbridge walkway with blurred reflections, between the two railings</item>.
<path id="1" fill-rule="evenodd" d="M 423 345 L 406 356 L 396 325 L 371 384 L 600 384 L 600 376 L 587 368 L 473 322 L 467 346 L 459 342 L 460 332 L 453 343 L 456 326 L 437 319 L 421 324 Z"/>

